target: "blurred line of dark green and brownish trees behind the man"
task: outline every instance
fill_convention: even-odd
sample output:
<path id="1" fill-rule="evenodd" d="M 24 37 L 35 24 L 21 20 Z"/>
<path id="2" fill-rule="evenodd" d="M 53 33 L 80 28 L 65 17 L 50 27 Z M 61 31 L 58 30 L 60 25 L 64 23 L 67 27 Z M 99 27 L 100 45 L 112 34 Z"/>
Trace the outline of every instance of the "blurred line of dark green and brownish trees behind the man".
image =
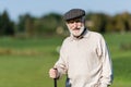
<path id="1" fill-rule="evenodd" d="M 123 12 L 116 15 L 105 13 L 86 13 L 85 25 L 88 29 L 99 33 L 124 33 L 131 32 L 131 14 Z M 9 13 L 0 13 L 0 36 L 48 36 L 67 35 L 68 29 L 58 13 L 49 13 L 40 17 L 31 14 L 19 16 L 19 21 L 13 22 Z"/>

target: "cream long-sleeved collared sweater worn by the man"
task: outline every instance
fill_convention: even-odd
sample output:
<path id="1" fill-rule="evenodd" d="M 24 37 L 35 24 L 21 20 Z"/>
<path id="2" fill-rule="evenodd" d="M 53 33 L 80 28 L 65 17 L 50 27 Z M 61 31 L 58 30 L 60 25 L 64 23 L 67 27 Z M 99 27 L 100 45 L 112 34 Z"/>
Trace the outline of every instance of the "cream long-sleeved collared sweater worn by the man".
<path id="1" fill-rule="evenodd" d="M 86 30 L 82 38 L 66 38 L 55 67 L 60 76 L 68 73 L 71 87 L 107 87 L 112 82 L 107 45 L 95 32 Z"/>

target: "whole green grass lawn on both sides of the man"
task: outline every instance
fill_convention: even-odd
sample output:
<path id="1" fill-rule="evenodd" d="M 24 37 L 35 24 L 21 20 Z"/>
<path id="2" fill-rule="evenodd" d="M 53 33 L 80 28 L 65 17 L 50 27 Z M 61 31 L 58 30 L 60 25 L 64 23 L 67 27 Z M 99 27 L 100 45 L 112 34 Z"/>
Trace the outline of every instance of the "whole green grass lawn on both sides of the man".
<path id="1" fill-rule="evenodd" d="M 107 34 L 112 64 L 111 87 L 131 87 L 131 34 Z M 0 87 L 53 87 L 48 71 L 58 60 L 62 37 L 17 39 L 0 38 Z M 58 80 L 64 87 L 64 76 Z"/>

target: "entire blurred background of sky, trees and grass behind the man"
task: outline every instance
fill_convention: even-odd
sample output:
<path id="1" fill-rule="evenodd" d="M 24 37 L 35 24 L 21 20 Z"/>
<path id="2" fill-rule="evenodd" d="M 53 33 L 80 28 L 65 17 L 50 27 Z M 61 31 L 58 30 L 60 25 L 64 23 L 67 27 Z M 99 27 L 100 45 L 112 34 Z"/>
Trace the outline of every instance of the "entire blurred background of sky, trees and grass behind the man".
<path id="1" fill-rule="evenodd" d="M 111 87 L 131 87 L 131 1 L 0 0 L 0 87 L 52 87 L 48 70 L 69 35 L 62 15 L 86 11 L 86 27 L 104 35 L 115 79 Z M 64 76 L 58 82 L 64 87 Z"/>

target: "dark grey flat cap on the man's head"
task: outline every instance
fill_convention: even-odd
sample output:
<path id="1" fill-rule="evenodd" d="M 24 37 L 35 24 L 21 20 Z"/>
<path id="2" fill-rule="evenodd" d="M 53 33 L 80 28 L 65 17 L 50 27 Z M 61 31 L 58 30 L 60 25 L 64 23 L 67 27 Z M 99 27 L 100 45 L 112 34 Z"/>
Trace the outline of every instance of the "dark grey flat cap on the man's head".
<path id="1" fill-rule="evenodd" d="M 63 20 L 69 21 L 72 18 L 81 17 L 85 15 L 85 11 L 82 9 L 71 9 L 63 15 Z"/>

